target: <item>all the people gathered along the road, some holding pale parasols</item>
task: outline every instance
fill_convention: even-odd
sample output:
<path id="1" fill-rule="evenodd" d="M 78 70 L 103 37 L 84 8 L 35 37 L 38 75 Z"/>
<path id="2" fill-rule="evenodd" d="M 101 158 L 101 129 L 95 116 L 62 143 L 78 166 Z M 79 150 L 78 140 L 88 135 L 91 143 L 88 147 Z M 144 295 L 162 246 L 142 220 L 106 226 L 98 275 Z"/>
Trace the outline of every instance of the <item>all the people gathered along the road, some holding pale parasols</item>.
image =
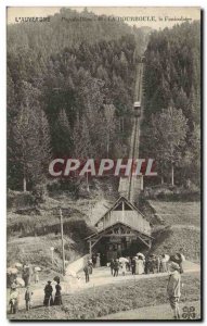
<path id="1" fill-rule="evenodd" d="M 180 318 L 179 312 L 179 299 L 180 299 L 180 284 L 181 284 L 181 274 L 183 273 L 182 263 L 184 261 L 184 255 L 181 253 L 176 253 L 173 255 L 154 255 L 144 256 L 143 253 L 138 253 L 132 258 L 119 258 L 112 260 L 108 266 L 111 267 L 111 273 L 114 277 L 118 275 L 126 275 L 127 272 L 132 275 L 142 275 L 150 273 L 165 273 L 169 272 L 169 280 L 167 285 L 167 293 L 170 302 L 170 306 L 173 311 L 174 318 Z M 95 262 L 96 263 L 96 262 Z M 96 267 L 96 264 L 91 259 L 88 259 L 83 266 L 83 272 L 86 276 L 86 283 L 90 281 L 90 275 L 93 273 L 93 268 Z M 28 265 L 24 265 L 22 276 L 25 281 L 25 306 L 26 311 L 29 311 L 33 305 L 33 294 L 34 292 L 30 289 L 30 268 Z M 17 278 L 13 279 L 10 289 L 10 309 L 11 313 L 16 313 L 18 309 L 18 285 L 16 281 Z M 55 293 L 52 286 L 52 281 L 48 280 L 44 287 L 44 298 L 43 305 L 61 305 L 62 302 L 62 287 L 60 284 L 60 277 L 55 276 L 53 279 L 55 285 Z M 35 284 L 39 281 L 39 274 L 35 273 Z M 54 294 L 53 294 L 54 293 Z"/>

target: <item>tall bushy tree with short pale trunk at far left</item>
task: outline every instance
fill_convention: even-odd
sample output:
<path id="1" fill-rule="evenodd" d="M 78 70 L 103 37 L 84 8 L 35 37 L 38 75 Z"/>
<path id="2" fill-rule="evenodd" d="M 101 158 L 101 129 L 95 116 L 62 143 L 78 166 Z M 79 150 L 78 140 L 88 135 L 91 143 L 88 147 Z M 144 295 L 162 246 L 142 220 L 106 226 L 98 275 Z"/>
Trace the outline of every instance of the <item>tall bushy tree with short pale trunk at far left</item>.
<path id="1" fill-rule="evenodd" d="M 38 91 L 25 83 L 20 112 L 12 128 L 13 141 L 9 148 L 9 161 L 18 166 L 23 190 L 42 183 L 50 159 L 49 125 L 38 102 Z M 31 96 L 33 93 L 33 96 Z M 10 162 L 11 164 L 11 162 Z"/>

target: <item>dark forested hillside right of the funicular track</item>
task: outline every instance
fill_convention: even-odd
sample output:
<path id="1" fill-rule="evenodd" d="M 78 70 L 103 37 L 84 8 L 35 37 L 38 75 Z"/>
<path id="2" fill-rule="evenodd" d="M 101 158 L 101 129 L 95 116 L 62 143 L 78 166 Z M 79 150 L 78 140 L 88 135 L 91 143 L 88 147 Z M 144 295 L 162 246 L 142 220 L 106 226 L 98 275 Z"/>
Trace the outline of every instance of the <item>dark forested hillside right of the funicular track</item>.
<path id="1" fill-rule="evenodd" d="M 200 25 L 151 34 L 145 51 L 142 155 L 153 156 L 161 181 L 199 184 Z"/>

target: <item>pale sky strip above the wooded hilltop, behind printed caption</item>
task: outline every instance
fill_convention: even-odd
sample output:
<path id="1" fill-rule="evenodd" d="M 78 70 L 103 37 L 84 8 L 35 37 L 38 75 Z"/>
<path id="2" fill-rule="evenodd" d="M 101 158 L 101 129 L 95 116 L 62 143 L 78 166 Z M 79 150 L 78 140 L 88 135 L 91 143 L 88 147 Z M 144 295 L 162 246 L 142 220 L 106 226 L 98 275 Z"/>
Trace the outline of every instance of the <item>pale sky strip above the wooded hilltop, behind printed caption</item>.
<path id="1" fill-rule="evenodd" d="M 15 23 L 15 17 L 47 16 L 60 12 L 59 7 L 10 7 L 8 8 L 8 24 Z M 73 7 L 73 10 L 81 12 L 83 7 Z M 115 15 L 118 17 L 150 17 L 150 21 L 127 22 L 137 27 L 150 26 L 154 29 L 172 27 L 174 24 L 183 23 L 185 18 L 190 22 L 199 20 L 198 7 L 88 7 L 88 11 L 101 15 Z M 151 21 L 154 16 L 155 21 Z M 172 18 L 172 20 L 171 20 Z"/>

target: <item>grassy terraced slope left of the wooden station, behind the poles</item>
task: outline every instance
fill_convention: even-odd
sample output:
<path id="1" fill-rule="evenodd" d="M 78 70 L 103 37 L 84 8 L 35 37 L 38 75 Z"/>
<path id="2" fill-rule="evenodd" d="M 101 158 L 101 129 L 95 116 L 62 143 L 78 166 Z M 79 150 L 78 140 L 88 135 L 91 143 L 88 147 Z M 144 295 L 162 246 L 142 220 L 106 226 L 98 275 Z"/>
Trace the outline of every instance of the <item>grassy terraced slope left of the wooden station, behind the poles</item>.
<path id="1" fill-rule="evenodd" d="M 73 262 L 88 253 L 85 238 L 94 233 L 94 221 L 117 199 L 117 185 L 105 179 L 91 185 L 90 195 L 74 199 L 68 191 L 50 192 L 44 202 L 34 204 L 30 192 L 10 191 L 8 195 L 8 266 L 29 262 L 43 273 L 62 271 L 60 213 L 64 221 L 65 259 Z M 51 250 L 54 247 L 54 264 Z M 50 272 L 50 269 L 52 269 Z"/>

